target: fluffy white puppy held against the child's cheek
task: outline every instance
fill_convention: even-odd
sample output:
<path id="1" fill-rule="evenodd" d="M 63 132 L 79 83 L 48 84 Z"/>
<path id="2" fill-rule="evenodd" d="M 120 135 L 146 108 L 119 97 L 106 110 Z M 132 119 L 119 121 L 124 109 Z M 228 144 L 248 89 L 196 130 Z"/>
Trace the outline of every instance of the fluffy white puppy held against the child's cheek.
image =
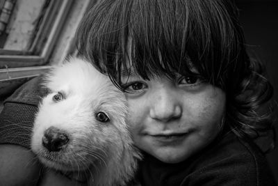
<path id="1" fill-rule="evenodd" d="M 90 63 L 70 59 L 46 76 L 50 93 L 35 118 L 31 148 L 45 166 L 88 171 L 90 185 L 125 185 L 138 150 L 126 125 L 126 100 Z"/>

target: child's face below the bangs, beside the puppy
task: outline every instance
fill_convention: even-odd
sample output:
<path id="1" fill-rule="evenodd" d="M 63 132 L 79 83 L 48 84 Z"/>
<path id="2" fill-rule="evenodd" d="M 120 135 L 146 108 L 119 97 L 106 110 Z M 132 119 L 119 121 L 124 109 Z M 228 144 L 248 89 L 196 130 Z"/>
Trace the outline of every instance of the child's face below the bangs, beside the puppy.
<path id="1" fill-rule="evenodd" d="M 150 81 L 122 79 L 129 104 L 128 122 L 136 146 L 158 160 L 177 163 L 207 146 L 220 132 L 225 94 L 195 77 Z"/>

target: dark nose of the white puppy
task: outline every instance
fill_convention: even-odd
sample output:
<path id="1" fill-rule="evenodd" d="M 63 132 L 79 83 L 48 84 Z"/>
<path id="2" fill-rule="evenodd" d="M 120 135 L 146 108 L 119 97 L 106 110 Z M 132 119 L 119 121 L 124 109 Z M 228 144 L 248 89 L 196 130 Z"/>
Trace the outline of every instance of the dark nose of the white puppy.
<path id="1" fill-rule="evenodd" d="M 42 137 L 42 145 L 49 152 L 60 151 L 69 141 L 67 134 L 56 127 L 49 127 Z"/>

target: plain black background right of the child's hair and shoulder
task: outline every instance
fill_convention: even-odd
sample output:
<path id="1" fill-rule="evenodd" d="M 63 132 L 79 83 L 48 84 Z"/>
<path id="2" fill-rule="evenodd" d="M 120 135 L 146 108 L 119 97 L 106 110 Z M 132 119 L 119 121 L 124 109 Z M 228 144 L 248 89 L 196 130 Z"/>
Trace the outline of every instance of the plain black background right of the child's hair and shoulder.
<path id="1" fill-rule="evenodd" d="M 245 32 L 248 51 L 265 63 L 268 78 L 275 88 L 278 101 L 278 0 L 238 0 L 240 22 Z M 278 111 L 276 111 L 278 116 Z M 278 121 L 275 123 L 278 136 Z M 278 183 L 278 140 L 268 154 L 268 162 Z"/>

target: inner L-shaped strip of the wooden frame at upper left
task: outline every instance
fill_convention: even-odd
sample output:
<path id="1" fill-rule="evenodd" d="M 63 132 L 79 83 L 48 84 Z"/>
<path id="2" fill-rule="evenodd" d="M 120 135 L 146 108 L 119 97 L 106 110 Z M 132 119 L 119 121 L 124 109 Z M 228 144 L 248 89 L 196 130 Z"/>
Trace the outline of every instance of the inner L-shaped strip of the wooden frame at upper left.
<path id="1" fill-rule="evenodd" d="M 65 22 L 72 1 L 73 0 L 52 0 L 31 48 L 28 51 L 8 50 L 7 52 L 5 49 L 1 49 L 0 68 L 44 65 L 58 38 L 63 22 Z M 52 20 L 54 20 L 54 22 Z M 3 70 L 0 71 L 0 73 L 1 72 L 3 72 Z"/>

